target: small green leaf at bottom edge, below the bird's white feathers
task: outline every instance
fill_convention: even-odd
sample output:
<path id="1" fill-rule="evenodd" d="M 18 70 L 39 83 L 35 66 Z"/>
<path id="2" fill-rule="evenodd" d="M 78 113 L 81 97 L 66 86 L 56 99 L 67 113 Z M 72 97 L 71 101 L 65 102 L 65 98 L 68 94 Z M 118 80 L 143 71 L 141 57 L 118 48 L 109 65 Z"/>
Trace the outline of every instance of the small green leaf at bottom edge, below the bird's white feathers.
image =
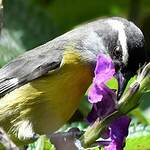
<path id="1" fill-rule="evenodd" d="M 54 145 L 50 143 L 49 139 L 47 139 L 45 135 L 42 135 L 36 142 L 29 144 L 27 150 L 56 150 L 56 149 Z"/>

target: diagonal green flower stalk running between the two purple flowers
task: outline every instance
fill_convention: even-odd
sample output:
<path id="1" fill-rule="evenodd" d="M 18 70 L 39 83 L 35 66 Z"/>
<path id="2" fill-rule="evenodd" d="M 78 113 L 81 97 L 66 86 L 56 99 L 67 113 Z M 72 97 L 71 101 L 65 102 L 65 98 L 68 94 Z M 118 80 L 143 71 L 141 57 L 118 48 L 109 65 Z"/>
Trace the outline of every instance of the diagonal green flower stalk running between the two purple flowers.
<path id="1" fill-rule="evenodd" d="M 97 119 L 80 140 L 83 147 L 91 146 L 101 135 L 101 133 L 110 125 L 110 123 L 121 117 L 140 104 L 140 98 L 143 94 L 150 91 L 150 63 L 148 63 L 142 72 L 138 75 L 137 80 L 127 89 L 119 100 L 117 111 L 114 111 L 102 120 Z"/>

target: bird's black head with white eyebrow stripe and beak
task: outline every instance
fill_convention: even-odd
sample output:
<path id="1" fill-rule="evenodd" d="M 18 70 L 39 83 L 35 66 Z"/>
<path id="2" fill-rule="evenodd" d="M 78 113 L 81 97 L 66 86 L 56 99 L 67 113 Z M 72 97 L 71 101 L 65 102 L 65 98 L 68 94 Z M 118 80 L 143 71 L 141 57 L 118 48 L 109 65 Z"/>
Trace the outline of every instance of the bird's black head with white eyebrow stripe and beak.
<path id="1" fill-rule="evenodd" d="M 128 80 L 145 62 L 144 36 L 134 23 L 123 18 L 103 19 L 99 24 L 101 28 L 96 32 L 115 64 L 118 82 L 124 77 L 119 87 L 121 96 Z"/>

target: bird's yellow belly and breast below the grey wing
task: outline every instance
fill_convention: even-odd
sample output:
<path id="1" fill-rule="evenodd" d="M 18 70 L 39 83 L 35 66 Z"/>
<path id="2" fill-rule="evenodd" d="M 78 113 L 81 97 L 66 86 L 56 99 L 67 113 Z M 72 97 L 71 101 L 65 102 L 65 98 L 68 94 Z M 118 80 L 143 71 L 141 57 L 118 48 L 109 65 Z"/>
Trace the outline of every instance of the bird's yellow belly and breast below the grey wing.
<path id="1" fill-rule="evenodd" d="M 66 61 L 66 57 L 59 70 L 1 99 L 0 124 L 5 124 L 5 130 L 10 131 L 19 121 L 29 120 L 34 132 L 45 134 L 57 130 L 73 115 L 93 76 L 89 65 L 74 59 L 69 57 Z"/>

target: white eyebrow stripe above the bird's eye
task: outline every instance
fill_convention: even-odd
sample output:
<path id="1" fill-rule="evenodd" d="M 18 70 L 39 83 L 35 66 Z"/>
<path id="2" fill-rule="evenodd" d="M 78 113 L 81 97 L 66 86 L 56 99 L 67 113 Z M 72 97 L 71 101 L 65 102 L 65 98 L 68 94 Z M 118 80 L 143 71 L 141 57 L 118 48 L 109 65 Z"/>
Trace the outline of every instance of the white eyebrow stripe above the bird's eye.
<path id="1" fill-rule="evenodd" d="M 125 26 L 119 20 L 108 20 L 109 25 L 116 31 L 118 31 L 118 40 L 122 46 L 122 60 L 126 64 L 128 61 L 128 49 L 127 49 L 127 36 L 125 33 Z"/>

